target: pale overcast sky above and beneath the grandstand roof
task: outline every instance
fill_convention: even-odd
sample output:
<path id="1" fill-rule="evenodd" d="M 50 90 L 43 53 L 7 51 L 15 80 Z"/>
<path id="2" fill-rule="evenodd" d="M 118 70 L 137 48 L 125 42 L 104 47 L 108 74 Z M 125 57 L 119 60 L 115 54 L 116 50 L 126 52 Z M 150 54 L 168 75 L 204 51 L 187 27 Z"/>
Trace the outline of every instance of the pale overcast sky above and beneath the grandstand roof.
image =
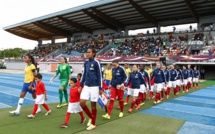
<path id="1" fill-rule="evenodd" d="M 0 50 L 16 47 L 33 49 L 38 44 L 37 41 L 28 40 L 10 34 L 4 31 L 3 27 L 95 1 L 98 0 L 5 0 L 4 2 L 1 2 Z M 196 27 L 196 24 L 192 25 L 193 28 Z M 186 26 L 176 26 L 176 29 L 188 27 L 189 24 Z M 130 31 L 129 34 L 134 35 L 141 32 L 145 33 L 147 30 L 148 29 L 133 30 Z M 153 28 L 149 30 L 152 32 Z M 161 27 L 161 32 L 171 30 L 172 26 L 165 28 Z"/>

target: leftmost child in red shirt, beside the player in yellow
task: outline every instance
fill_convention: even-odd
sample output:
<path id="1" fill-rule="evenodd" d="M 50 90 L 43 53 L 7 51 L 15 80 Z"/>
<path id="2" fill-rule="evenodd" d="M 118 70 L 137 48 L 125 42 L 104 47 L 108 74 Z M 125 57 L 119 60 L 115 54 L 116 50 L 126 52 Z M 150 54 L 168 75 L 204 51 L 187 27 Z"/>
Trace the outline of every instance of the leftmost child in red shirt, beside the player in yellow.
<path id="1" fill-rule="evenodd" d="M 34 104 L 34 110 L 33 110 L 32 114 L 27 115 L 28 118 L 34 118 L 35 117 L 35 114 L 37 112 L 39 104 L 42 104 L 43 107 L 46 109 L 47 112 L 46 112 L 45 115 L 49 115 L 51 113 L 51 110 L 49 109 L 48 105 L 45 103 L 45 100 L 47 100 L 47 96 L 46 96 L 45 85 L 41 81 L 42 80 L 42 75 L 41 74 L 37 74 L 35 76 L 35 80 L 37 82 L 37 85 L 36 85 L 35 88 L 32 87 L 32 90 L 35 90 L 36 100 L 35 100 L 35 104 Z"/>

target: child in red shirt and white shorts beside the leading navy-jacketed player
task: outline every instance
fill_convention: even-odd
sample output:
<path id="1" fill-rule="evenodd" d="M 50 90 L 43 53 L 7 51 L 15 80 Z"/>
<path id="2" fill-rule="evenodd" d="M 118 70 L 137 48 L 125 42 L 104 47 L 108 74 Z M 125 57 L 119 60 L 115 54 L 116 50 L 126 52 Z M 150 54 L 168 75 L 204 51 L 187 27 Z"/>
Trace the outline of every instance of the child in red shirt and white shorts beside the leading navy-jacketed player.
<path id="1" fill-rule="evenodd" d="M 79 113 L 81 116 L 81 124 L 84 124 L 86 121 L 86 118 L 84 117 L 83 110 L 80 106 L 80 92 L 81 90 L 79 87 L 77 87 L 77 79 L 76 78 L 71 78 L 69 85 L 71 86 L 70 88 L 70 100 L 69 100 L 69 106 L 68 110 L 66 113 L 66 119 L 63 124 L 60 126 L 62 128 L 67 128 L 68 127 L 68 122 L 70 118 L 71 113 Z"/>

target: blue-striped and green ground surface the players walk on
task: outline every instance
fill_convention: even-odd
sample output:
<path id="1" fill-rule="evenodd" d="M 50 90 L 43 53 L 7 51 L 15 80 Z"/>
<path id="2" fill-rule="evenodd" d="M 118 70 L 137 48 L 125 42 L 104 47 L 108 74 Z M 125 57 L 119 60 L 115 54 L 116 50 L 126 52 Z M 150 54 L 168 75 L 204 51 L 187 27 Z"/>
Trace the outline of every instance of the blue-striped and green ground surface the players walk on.
<path id="1" fill-rule="evenodd" d="M 200 90 L 180 93 L 177 98 L 171 96 L 156 106 L 152 105 L 153 100 L 147 100 L 141 110 L 134 110 L 133 113 L 127 112 L 130 106 L 127 105 L 123 118 L 119 118 L 119 110 L 114 109 L 110 120 L 103 119 L 102 115 L 105 111 L 97 106 L 97 128 L 89 132 L 85 130 L 86 123 L 80 124 L 78 114 L 71 114 L 67 129 L 60 128 L 59 125 L 64 122 L 67 107 L 56 108 L 59 80 L 56 79 L 53 84 L 49 84 L 52 75 L 43 75 L 49 99 L 47 103 L 52 113 L 45 116 L 45 109 L 41 107 L 42 112 L 34 119 L 27 118 L 34 104 L 30 94 L 26 96 L 19 116 L 8 113 L 17 105 L 23 84 L 23 74 L 0 73 L 0 76 L 0 134 L 196 134 L 196 130 L 199 129 L 200 132 L 202 127 L 210 130 L 208 132 L 205 130 L 204 133 L 215 132 L 215 87 L 213 86 L 215 81 L 213 80 L 200 82 Z"/>

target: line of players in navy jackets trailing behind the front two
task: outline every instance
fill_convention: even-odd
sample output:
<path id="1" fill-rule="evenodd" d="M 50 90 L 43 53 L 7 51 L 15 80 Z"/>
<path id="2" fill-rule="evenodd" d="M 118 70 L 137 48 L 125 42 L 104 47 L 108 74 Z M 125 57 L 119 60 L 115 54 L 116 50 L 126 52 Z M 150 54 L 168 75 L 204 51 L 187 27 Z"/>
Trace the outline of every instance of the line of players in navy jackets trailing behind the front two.
<path id="1" fill-rule="evenodd" d="M 164 94 L 167 99 L 169 98 L 171 88 L 173 88 L 174 96 L 177 96 L 181 89 L 183 89 L 183 93 L 189 92 L 191 88 L 198 89 L 200 73 L 196 66 L 194 70 L 191 68 L 191 65 L 187 67 L 183 66 L 181 70 L 178 65 L 166 67 L 162 63 L 157 63 L 156 68 L 152 71 L 148 66 L 146 66 L 146 70 L 144 70 L 143 65 L 134 65 L 133 72 L 131 72 L 128 64 L 125 64 L 124 68 L 129 77 L 126 88 L 127 97 L 124 105 L 127 105 L 130 96 L 133 96 L 131 107 L 128 112 L 132 112 L 135 104 L 136 110 L 140 109 L 140 106 L 145 104 L 147 93 L 148 99 L 154 98 L 153 103 L 157 104 L 164 99 Z M 110 72 L 111 68 L 110 65 L 108 65 L 107 70 L 104 72 L 107 85 L 109 85 L 111 80 Z M 144 80 L 142 80 L 142 78 Z M 110 116 L 110 114 L 108 115 Z M 109 119 L 110 117 L 108 115 L 103 117 Z"/>

